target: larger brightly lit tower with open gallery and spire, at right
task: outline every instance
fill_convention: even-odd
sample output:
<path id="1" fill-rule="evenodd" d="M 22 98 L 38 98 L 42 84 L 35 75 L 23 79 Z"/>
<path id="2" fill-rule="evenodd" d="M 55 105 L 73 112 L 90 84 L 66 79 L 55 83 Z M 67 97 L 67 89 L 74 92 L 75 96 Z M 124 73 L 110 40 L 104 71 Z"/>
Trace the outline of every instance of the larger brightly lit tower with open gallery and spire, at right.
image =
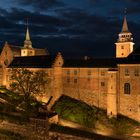
<path id="1" fill-rule="evenodd" d="M 133 52 L 133 38 L 132 33 L 128 29 L 126 15 L 124 16 L 122 31 L 119 33 L 119 38 L 116 44 L 116 58 L 127 57 Z"/>

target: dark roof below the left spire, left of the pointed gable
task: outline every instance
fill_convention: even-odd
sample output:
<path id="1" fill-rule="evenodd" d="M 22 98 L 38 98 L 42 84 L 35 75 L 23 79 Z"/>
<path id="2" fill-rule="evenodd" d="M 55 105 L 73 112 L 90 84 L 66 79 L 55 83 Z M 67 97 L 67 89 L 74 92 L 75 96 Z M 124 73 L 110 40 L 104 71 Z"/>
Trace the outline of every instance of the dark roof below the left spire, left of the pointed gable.
<path id="1" fill-rule="evenodd" d="M 15 57 L 9 68 L 51 68 L 55 56 L 24 56 Z"/>

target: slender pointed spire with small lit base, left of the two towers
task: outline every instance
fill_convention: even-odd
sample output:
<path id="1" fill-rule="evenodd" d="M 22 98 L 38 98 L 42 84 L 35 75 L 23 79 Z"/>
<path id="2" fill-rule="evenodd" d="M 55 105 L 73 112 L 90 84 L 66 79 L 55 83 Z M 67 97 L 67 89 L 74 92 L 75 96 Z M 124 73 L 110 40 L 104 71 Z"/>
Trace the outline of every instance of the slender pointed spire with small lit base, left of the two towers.
<path id="1" fill-rule="evenodd" d="M 21 56 L 34 56 L 34 55 L 35 55 L 35 50 L 32 47 L 32 42 L 30 40 L 30 33 L 27 24 L 26 38 L 24 41 L 24 47 L 21 49 Z"/>

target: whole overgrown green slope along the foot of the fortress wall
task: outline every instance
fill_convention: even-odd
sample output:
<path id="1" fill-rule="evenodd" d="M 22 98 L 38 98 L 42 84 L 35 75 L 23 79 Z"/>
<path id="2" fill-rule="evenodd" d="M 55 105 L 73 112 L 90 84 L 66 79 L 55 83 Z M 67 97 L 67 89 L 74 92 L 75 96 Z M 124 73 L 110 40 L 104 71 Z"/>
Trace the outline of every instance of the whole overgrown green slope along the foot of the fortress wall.
<path id="1" fill-rule="evenodd" d="M 96 127 L 104 132 L 111 132 L 115 135 L 131 135 L 139 123 L 127 117 L 119 115 L 116 118 L 108 119 L 106 111 L 91 107 L 82 101 L 61 96 L 52 107 L 60 118 L 76 122 L 87 127 Z"/>

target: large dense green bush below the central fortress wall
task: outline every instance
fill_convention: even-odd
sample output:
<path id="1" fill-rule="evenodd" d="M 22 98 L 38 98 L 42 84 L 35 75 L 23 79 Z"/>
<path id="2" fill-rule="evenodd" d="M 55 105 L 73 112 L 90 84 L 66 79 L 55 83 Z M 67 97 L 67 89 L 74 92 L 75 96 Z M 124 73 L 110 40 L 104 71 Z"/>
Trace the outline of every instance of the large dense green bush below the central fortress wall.
<path id="1" fill-rule="evenodd" d="M 63 95 L 54 103 L 52 110 L 62 119 L 95 127 L 97 109 L 82 101 Z"/>

